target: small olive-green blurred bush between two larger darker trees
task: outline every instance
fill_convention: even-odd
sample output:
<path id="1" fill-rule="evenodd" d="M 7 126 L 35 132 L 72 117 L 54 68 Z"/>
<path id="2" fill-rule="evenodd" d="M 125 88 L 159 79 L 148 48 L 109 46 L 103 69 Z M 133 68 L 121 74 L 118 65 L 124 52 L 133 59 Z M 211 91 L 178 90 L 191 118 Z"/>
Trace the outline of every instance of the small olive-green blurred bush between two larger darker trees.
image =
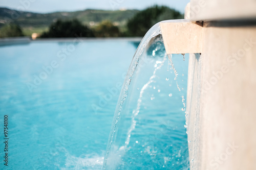
<path id="1" fill-rule="evenodd" d="M 96 26 L 94 34 L 96 37 L 119 37 L 121 35 L 119 28 L 109 20 L 103 20 Z"/>

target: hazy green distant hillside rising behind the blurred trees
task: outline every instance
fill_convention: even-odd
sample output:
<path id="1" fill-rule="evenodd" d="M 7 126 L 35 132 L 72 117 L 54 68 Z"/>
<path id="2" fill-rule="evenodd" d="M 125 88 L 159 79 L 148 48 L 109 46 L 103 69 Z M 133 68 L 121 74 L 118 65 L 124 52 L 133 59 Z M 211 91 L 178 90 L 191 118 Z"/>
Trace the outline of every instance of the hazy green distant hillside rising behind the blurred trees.
<path id="1" fill-rule="evenodd" d="M 0 28 L 6 23 L 12 22 L 22 27 L 25 35 L 31 35 L 33 32 L 41 33 L 46 31 L 50 24 L 57 19 L 68 20 L 76 18 L 84 25 L 90 26 L 91 22 L 92 27 L 98 25 L 102 20 L 110 20 L 122 29 L 126 25 L 127 20 L 138 12 L 138 10 L 105 11 L 87 9 L 75 12 L 53 12 L 41 14 L 33 12 L 21 13 L 8 8 L 0 8 Z"/>

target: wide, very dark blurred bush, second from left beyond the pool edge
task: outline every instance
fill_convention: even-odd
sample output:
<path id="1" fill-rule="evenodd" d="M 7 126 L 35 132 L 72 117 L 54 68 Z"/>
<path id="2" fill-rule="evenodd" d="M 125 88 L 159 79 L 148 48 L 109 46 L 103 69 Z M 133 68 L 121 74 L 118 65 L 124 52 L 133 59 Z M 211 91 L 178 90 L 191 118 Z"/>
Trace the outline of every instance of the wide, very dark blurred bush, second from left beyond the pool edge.
<path id="1" fill-rule="evenodd" d="M 48 32 L 42 33 L 42 38 L 60 37 L 94 37 L 93 31 L 87 26 L 83 26 L 77 19 L 62 21 L 58 19 L 49 27 Z"/>

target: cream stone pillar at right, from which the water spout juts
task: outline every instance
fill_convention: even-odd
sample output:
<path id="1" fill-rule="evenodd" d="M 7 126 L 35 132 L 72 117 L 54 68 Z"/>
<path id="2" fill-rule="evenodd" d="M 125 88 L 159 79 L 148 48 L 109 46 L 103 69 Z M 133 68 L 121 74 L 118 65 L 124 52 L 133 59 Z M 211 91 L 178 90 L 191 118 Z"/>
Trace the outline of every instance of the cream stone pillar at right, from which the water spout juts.
<path id="1" fill-rule="evenodd" d="M 256 169 L 255 1 L 204 2 L 190 8 L 204 21 L 202 54 L 189 58 L 190 169 Z"/>

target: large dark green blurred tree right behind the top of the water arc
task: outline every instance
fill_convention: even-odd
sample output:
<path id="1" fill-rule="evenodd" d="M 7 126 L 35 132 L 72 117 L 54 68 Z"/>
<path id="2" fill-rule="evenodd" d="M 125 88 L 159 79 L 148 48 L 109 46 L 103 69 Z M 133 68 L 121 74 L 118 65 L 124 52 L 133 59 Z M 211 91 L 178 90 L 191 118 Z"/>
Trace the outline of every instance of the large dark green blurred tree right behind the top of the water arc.
<path id="1" fill-rule="evenodd" d="M 144 36 L 155 23 L 167 19 L 181 19 L 184 15 L 165 6 L 147 8 L 138 12 L 127 22 L 127 36 Z"/>

